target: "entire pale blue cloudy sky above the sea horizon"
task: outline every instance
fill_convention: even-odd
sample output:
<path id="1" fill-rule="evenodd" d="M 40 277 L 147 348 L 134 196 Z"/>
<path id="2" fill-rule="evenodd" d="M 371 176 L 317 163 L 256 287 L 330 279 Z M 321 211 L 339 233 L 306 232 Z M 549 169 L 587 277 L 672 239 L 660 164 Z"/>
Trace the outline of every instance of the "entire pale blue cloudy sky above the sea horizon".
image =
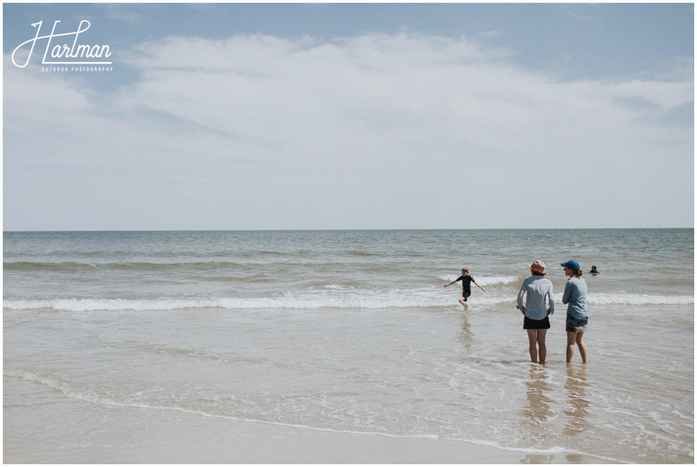
<path id="1" fill-rule="evenodd" d="M 663 227 L 694 3 L 3 3 L 3 231 Z"/>

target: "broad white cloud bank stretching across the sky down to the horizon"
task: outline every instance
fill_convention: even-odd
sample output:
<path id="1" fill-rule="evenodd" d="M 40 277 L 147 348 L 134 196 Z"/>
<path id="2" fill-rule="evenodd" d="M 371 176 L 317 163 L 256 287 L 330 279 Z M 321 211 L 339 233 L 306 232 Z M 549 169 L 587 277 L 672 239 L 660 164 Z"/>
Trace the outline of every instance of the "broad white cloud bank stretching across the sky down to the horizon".
<path id="1" fill-rule="evenodd" d="M 561 197 L 550 201 L 559 214 L 544 225 L 523 225 L 514 200 L 529 185 L 549 191 L 571 176 L 597 193 L 583 222 L 608 225 L 620 213 L 642 222 L 654 204 L 645 190 L 618 190 L 620 176 L 646 185 L 662 171 L 689 194 L 692 130 L 657 121 L 693 102 L 692 81 L 558 82 L 507 56 L 419 33 L 173 36 L 122 54 L 139 79 L 108 95 L 52 75 L 24 81 L 6 67 L 6 128 L 16 132 L 13 144 L 26 137 L 21 128 L 41 128 L 47 146 L 98 146 L 100 154 L 52 154 L 59 163 L 120 168 L 139 196 L 169 194 L 190 220 L 216 228 L 224 227 L 210 221 L 213 211 L 201 213 L 215 200 L 235 218 L 227 228 L 471 227 L 450 223 L 457 211 L 434 207 L 466 187 L 487 202 L 466 208 L 482 222 L 475 227 L 567 227 Z M 657 162 L 671 145 L 680 158 L 672 169 Z M 692 215 L 668 195 L 652 196 L 673 201 L 676 219 Z M 141 210 L 157 217 L 158 206 L 169 212 L 162 202 Z"/>

